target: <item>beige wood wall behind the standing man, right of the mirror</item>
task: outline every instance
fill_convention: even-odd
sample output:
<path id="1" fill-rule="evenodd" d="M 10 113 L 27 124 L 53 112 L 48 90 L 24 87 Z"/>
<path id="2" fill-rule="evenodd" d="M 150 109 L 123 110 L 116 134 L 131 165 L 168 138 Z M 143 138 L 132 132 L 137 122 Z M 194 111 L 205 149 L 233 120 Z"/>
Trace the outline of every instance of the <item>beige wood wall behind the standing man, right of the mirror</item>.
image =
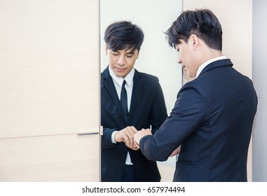
<path id="1" fill-rule="evenodd" d="M 223 29 L 223 55 L 233 68 L 252 78 L 252 0 L 185 0 L 183 10 L 208 8 L 217 15 Z M 248 181 L 252 181 L 252 149 L 247 162 Z"/>

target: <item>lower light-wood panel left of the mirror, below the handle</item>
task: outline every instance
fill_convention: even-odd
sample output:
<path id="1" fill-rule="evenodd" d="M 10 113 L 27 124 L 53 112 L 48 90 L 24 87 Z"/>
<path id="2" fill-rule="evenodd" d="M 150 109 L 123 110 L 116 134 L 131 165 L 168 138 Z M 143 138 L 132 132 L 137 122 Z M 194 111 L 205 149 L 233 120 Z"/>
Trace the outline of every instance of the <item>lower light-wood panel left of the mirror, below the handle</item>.
<path id="1" fill-rule="evenodd" d="M 0 139 L 0 181 L 100 181 L 100 135 Z"/>

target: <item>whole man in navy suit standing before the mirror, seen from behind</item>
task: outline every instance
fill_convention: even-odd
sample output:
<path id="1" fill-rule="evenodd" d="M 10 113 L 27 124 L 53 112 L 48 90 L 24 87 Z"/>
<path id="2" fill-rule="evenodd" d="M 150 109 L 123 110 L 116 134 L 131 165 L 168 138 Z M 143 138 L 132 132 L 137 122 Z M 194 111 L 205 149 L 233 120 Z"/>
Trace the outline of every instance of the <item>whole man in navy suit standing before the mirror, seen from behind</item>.
<path id="1" fill-rule="evenodd" d="M 219 20 L 207 9 L 187 10 L 166 37 L 194 79 L 179 90 L 156 134 L 135 134 L 136 145 L 154 161 L 179 152 L 173 181 L 247 181 L 257 97 L 252 81 L 221 53 Z"/>

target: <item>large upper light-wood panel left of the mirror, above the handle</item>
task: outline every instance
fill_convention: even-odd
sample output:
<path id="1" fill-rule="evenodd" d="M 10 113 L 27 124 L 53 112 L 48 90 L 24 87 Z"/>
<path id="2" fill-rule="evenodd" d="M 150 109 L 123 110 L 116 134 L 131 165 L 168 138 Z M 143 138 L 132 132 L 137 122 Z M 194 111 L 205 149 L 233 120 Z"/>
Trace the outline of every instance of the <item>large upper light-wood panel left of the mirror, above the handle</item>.
<path id="1" fill-rule="evenodd" d="M 0 1 L 0 138 L 99 130 L 98 0 Z"/>

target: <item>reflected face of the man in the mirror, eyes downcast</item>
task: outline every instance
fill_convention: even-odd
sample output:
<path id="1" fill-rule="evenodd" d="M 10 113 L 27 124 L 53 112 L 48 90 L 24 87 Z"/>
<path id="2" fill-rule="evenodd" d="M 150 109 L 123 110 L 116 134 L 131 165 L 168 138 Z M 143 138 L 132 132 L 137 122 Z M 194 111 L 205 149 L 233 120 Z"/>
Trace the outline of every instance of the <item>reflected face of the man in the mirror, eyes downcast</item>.
<path id="1" fill-rule="evenodd" d="M 135 65 L 135 60 L 138 59 L 138 50 L 109 50 L 106 47 L 106 54 L 109 57 L 109 66 L 118 77 L 125 77 Z"/>

